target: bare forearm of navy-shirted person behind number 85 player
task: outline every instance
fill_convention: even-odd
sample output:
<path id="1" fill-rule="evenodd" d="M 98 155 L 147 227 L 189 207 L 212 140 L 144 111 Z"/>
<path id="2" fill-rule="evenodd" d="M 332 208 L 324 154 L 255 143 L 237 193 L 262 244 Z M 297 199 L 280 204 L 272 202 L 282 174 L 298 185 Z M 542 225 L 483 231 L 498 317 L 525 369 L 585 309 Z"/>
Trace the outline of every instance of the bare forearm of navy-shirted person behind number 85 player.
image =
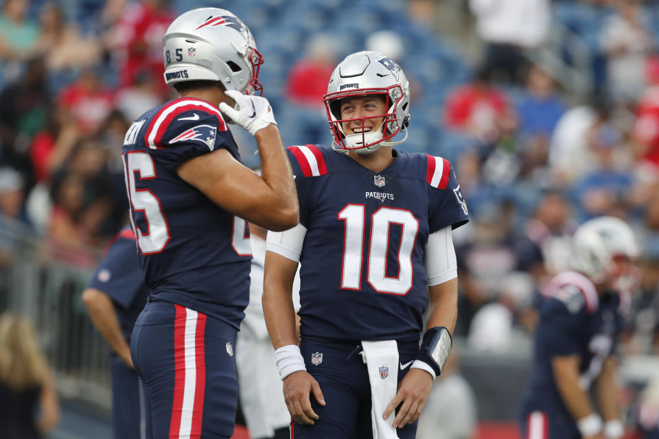
<path id="1" fill-rule="evenodd" d="M 119 320 L 117 320 L 117 313 L 115 313 L 112 300 L 107 294 L 93 288 L 84 290 L 82 300 L 89 310 L 89 316 L 96 329 L 113 351 L 128 362 L 130 360 L 130 346 L 128 346 L 122 329 L 119 327 Z"/>

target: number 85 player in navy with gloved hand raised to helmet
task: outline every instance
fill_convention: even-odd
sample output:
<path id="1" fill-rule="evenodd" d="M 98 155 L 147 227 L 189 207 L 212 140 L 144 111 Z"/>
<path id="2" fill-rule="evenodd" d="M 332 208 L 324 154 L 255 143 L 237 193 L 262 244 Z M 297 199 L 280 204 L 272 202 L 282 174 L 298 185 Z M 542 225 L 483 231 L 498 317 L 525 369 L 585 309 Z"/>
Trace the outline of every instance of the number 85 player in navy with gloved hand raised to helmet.
<path id="1" fill-rule="evenodd" d="M 148 388 L 154 438 L 229 438 L 233 348 L 249 298 L 246 221 L 295 226 L 297 195 L 273 112 L 254 95 L 263 58 L 246 25 L 200 8 L 178 16 L 163 41 L 165 82 L 178 99 L 137 118 L 123 148 L 150 289 L 130 353 Z M 242 165 L 224 115 L 256 138 L 262 176 Z"/>

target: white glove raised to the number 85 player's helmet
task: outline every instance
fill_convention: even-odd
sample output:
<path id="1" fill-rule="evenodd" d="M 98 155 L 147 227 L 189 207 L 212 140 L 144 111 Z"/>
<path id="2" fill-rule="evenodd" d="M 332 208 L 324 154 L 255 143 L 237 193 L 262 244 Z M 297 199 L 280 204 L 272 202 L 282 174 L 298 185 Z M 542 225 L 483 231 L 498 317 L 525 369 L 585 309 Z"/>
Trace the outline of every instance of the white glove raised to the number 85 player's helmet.
<path id="1" fill-rule="evenodd" d="M 261 96 L 250 96 L 236 90 L 225 91 L 235 101 L 235 107 L 231 108 L 224 102 L 220 103 L 220 111 L 227 115 L 233 122 L 238 123 L 250 134 L 254 135 L 258 130 L 266 128 L 275 122 L 273 109 L 270 108 L 268 99 Z"/>

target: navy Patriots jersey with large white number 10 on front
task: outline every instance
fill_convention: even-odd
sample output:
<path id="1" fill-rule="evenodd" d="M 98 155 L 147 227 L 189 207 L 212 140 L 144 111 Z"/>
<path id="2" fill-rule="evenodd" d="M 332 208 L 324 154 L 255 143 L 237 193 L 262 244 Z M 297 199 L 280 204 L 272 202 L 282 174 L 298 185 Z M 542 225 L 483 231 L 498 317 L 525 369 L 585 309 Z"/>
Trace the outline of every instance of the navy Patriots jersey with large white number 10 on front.
<path id="1" fill-rule="evenodd" d="M 465 224 L 467 206 L 448 161 L 393 154 L 377 173 L 325 146 L 288 148 L 307 229 L 303 336 L 419 340 L 428 307 L 428 235 Z"/>

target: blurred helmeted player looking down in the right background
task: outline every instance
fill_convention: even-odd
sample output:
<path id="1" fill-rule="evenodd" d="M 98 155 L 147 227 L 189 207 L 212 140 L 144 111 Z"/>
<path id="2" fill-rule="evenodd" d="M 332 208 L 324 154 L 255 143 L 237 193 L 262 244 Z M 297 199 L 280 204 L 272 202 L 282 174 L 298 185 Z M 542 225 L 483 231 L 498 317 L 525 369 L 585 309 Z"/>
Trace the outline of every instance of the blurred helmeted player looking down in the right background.
<path id="1" fill-rule="evenodd" d="M 632 229 L 621 219 L 582 224 L 573 242 L 574 271 L 544 289 L 535 329 L 533 370 L 522 399 L 524 439 L 618 439 L 616 338 L 629 292 L 638 285 Z M 597 407 L 590 401 L 597 385 Z"/>

